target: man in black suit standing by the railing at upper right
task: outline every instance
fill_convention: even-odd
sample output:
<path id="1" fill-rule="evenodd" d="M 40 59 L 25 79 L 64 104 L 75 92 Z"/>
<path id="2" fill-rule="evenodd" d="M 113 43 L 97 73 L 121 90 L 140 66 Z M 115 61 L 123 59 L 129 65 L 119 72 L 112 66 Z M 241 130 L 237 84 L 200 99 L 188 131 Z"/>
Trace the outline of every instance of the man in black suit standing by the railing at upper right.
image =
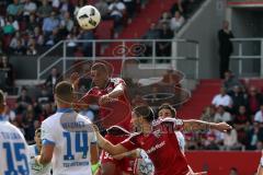
<path id="1" fill-rule="evenodd" d="M 219 40 L 219 57 L 220 57 L 220 78 L 224 79 L 224 73 L 229 70 L 229 57 L 233 51 L 231 43 L 233 38 L 232 32 L 229 30 L 229 22 L 224 21 L 222 28 L 218 32 Z"/>

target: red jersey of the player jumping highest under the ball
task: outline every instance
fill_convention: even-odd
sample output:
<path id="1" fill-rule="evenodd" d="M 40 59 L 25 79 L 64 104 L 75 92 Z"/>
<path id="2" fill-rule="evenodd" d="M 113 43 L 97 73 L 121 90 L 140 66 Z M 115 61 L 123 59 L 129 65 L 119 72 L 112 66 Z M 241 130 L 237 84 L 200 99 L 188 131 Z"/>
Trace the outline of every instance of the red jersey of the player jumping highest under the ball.
<path id="1" fill-rule="evenodd" d="M 106 88 L 105 89 L 99 89 L 98 86 L 92 88 L 82 98 L 81 101 L 85 102 L 85 98 L 89 97 L 89 95 L 94 95 L 94 96 L 102 96 L 105 94 L 111 93 L 118 84 L 123 84 L 124 86 L 126 86 L 126 83 L 123 79 L 119 78 L 111 78 Z M 127 105 L 129 107 L 130 113 L 128 113 L 127 116 L 124 116 L 123 120 L 118 120 L 116 121 L 116 126 L 123 127 L 126 130 L 130 130 L 130 119 L 132 119 L 132 108 L 130 108 L 130 104 L 129 101 L 126 96 L 126 92 L 124 93 L 124 95 L 121 95 L 118 97 L 118 101 L 121 101 L 122 103 L 124 103 L 125 105 Z M 121 110 L 121 109 L 119 109 Z M 100 108 L 99 110 L 99 116 L 100 116 L 100 120 L 102 120 L 103 124 L 103 118 L 106 117 L 111 112 Z M 114 119 L 114 118 L 113 118 Z"/>

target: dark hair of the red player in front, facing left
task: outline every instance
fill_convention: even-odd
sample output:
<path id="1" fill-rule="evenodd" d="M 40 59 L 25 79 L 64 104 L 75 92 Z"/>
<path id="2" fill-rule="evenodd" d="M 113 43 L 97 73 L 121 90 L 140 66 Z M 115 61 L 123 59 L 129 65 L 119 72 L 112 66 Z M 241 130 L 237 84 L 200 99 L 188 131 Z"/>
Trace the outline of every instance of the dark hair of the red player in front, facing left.
<path id="1" fill-rule="evenodd" d="M 155 120 L 155 112 L 149 106 L 138 106 L 134 108 L 134 113 L 138 117 L 145 118 L 148 122 L 151 122 Z"/>

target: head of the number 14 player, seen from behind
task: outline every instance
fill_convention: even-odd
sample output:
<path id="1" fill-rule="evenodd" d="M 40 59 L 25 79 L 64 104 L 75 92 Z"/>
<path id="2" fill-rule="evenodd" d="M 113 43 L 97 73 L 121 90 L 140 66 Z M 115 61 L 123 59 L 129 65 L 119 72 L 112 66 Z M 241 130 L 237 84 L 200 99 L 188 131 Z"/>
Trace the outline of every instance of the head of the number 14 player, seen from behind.
<path id="1" fill-rule="evenodd" d="M 75 100 L 73 85 L 68 81 L 59 82 L 55 88 L 55 100 L 58 107 L 69 107 Z"/>

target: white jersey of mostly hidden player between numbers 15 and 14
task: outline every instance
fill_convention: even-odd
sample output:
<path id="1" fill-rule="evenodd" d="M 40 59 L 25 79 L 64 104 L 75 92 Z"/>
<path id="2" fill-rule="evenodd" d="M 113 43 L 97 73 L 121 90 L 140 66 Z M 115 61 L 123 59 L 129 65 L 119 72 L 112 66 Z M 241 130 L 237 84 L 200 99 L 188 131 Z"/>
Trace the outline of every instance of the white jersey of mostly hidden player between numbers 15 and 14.
<path id="1" fill-rule="evenodd" d="M 50 175 L 52 164 L 39 165 L 35 162 L 35 156 L 39 154 L 36 144 L 30 145 L 30 166 L 32 175 Z"/>

